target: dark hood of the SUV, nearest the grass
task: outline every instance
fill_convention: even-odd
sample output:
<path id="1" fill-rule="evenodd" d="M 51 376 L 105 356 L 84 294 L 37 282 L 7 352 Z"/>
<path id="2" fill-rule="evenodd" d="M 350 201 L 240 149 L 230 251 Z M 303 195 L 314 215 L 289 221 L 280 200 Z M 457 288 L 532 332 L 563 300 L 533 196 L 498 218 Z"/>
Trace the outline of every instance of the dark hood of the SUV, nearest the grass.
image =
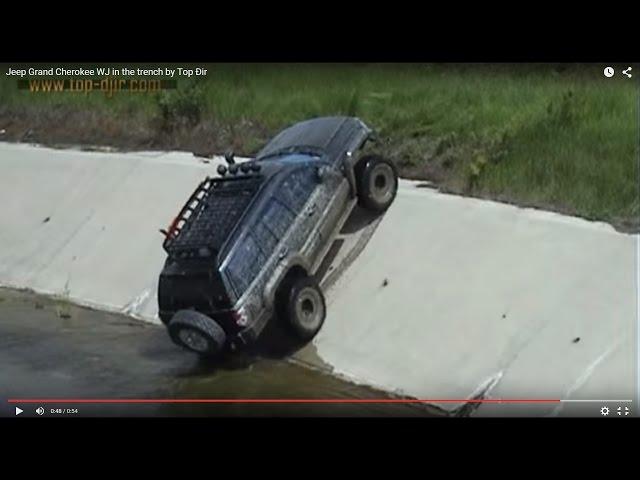
<path id="1" fill-rule="evenodd" d="M 339 155 L 358 134 L 371 133 L 362 120 L 356 117 L 319 117 L 296 123 L 271 140 L 256 158 L 287 151 L 293 147 L 321 150 L 328 156 Z"/>

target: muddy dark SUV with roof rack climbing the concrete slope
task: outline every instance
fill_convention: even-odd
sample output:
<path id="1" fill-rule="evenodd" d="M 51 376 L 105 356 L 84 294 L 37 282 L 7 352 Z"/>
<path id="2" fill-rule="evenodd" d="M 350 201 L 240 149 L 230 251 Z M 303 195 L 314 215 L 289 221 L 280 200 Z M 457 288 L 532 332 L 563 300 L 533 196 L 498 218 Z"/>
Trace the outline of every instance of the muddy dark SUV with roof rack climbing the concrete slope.
<path id="1" fill-rule="evenodd" d="M 363 155 L 372 131 L 317 118 L 278 134 L 255 159 L 206 178 L 165 234 L 159 315 L 172 340 L 203 356 L 254 341 L 274 313 L 308 341 L 326 315 L 315 274 L 356 203 L 384 212 L 394 165 Z"/>

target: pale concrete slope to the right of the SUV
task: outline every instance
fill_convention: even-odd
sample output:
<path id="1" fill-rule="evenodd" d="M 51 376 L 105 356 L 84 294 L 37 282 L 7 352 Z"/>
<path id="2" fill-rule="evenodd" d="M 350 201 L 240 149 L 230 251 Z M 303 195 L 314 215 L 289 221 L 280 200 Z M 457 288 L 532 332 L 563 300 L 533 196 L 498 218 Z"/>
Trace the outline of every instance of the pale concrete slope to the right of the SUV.
<path id="1" fill-rule="evenodd" d="M 636 252 L 608 225 L 405 182 L 333 286 L 318 352 L 420 398 L 636 398 Z"/>

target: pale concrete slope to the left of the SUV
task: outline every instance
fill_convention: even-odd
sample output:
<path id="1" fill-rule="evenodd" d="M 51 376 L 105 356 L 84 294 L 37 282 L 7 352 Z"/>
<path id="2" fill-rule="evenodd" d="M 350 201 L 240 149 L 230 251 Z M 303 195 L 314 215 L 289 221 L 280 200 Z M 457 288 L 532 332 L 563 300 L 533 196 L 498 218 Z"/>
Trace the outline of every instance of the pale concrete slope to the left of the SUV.
<path id="1" fill-rule="evenodd" d="M 158 230 L 212 172 L 185 153 L 1 145 L 0 282 L 156 319 Z"/>

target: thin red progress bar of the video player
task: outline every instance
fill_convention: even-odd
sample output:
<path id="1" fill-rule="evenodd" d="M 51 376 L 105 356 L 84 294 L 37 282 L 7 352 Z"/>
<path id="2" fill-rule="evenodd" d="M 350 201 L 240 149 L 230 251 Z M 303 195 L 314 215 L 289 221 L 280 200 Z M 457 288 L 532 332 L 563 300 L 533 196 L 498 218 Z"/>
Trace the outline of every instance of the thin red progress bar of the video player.
<path id="1" fill-rule="evenodd" d="M 396 399 L 396 398 L 28 398 L 9 403 L 560 403 L 559 399 Z"/>

